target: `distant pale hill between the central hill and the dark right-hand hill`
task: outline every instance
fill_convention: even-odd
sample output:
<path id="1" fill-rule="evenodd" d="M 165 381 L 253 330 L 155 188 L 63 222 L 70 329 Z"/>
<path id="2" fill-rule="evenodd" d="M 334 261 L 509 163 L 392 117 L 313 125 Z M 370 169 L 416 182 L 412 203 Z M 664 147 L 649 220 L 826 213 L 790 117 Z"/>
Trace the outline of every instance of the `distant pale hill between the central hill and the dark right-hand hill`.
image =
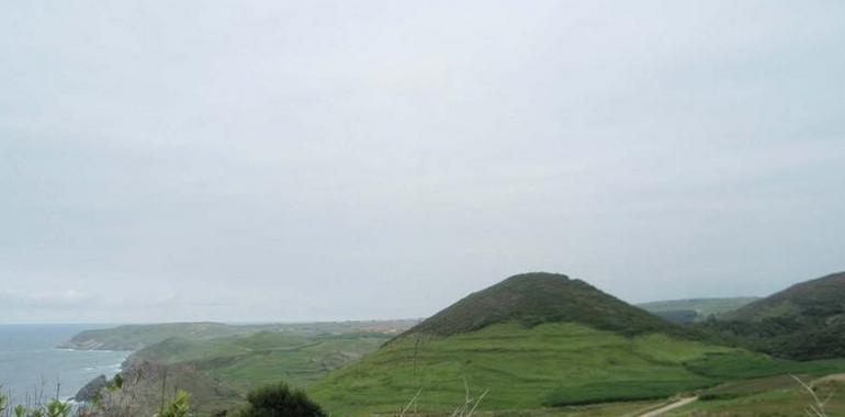
<path id="1" fill-rule="evenodd" d="M 701 322 L 710 316 L 720 316 L 733 312 L 758 297 L 730 297 L 730 298 L 686 298 L 654 301 L 636 304 L 638 307 L 652 314 L 656 314 L 671 322 L 689 323 Z"/>

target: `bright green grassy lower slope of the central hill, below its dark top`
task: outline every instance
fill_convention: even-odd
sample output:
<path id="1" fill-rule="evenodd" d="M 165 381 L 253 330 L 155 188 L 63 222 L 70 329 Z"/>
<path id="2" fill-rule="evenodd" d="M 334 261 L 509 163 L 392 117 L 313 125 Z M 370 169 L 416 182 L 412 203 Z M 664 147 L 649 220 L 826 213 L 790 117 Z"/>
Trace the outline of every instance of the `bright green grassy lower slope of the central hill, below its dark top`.
<path id="1" fill-rule="evenodd" d="M 418 390 L 418 410 L 489 391 L 482 410 L 525 410 L 662 398 L 760 375 L 845 370 L 845 361 L 792 362 L 649 334 L 626 337 L 578 324 L 498 324 L 449 337 L 396 340 L 306 390 L 335 415 L 395 413 Z"/>

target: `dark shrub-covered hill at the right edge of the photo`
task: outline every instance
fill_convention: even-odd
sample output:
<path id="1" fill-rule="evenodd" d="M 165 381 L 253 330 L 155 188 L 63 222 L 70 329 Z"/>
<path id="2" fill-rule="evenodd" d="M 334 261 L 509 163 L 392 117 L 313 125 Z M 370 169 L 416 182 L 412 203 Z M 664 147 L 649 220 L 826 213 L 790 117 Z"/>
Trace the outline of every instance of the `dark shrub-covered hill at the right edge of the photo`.
<path id="1" fill-rule="evenodd" d="M 701 328 L 739 346 L 784 358 L 843 358 L 845 272 L 792 285 Z"/>

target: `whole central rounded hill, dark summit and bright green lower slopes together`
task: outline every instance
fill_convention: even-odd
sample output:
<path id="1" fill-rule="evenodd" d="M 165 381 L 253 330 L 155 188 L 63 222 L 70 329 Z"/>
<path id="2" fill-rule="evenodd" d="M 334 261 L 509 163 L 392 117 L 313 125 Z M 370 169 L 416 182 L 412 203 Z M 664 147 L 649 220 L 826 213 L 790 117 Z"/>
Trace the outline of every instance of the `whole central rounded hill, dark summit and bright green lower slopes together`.
<path id="1" fill-rule="evenodd" d="M 753 369 L 746 368 L 753 363 Z M 668 397 L 808 367 L 685 337 L 579 280 L 533 273 L 474 293 L 306 387 L 342 416 L 450 413 Z M 845 361 L 818 364 L 819 372 Z"/>

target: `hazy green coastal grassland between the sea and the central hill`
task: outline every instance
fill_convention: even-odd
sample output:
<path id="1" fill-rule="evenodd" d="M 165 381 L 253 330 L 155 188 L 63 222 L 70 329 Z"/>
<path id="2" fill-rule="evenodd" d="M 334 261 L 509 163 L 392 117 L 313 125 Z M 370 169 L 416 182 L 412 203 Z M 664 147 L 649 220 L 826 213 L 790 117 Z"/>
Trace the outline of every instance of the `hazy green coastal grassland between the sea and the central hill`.
<path id="1" fill-rule="evenodd" d="M 124 380 L 133 381 L 145 412 L 160 404 L 166 393 L 182 388 L 191 394 L 199 415 L 236 407 L 255 387 L 286 382 L 301 387 L 331 370 L 373 351 L 413 320 L 348 322 L 296 325 L 227 326 L 219 337 L 185 334 L 169 337 L 134 352 L 124 363 Z M 168 325 L 155 337 L 168 334 Z M 119 328 L 108 337 L 125 333 Z M 386 333 L 383 333 L 386 331 Z M 151 335 L 147 331 L 146 335 Z M 149 340 L 149 339 L 147 339 Z M 143 375 L 134 384 L 138 372 Z M 149 408 L 151 407 L 151 408 Z"/>

